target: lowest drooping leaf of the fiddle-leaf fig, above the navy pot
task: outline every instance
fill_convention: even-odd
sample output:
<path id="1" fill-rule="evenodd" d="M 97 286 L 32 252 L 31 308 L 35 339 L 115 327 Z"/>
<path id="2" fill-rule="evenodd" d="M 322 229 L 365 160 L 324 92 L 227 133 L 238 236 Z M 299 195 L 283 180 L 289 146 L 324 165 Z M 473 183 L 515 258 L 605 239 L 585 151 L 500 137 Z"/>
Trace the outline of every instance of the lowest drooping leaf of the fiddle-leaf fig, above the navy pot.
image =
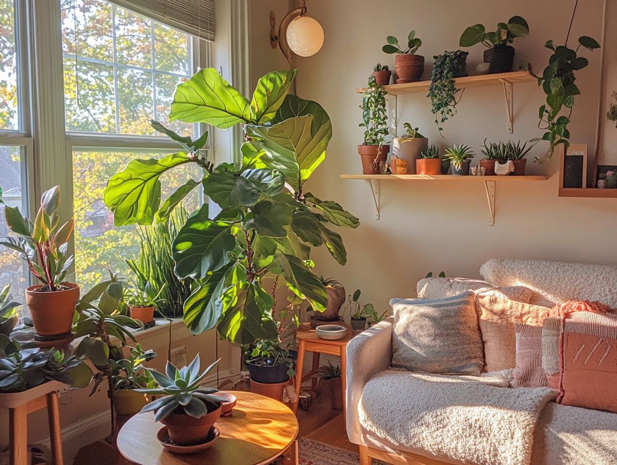
<path id="1" fill-rule="evenodd" d="M 259 285 L 239 281 L 222 296 L 225 311 L 218 324 L 220 335 L 234 343 L 252 343 L 271 337 L 263 320 L 271 320 L 274 299 Z"/>

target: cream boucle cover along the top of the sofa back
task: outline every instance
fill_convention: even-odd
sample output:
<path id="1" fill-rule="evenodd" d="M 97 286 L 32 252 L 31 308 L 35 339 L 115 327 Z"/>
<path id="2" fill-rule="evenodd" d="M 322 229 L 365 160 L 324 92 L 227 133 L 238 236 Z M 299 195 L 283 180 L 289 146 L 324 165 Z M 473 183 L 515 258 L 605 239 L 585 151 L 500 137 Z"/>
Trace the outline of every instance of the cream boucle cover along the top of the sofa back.
<path id="1" fill-rule="evenodd" d="M 497 287 L 525 286 L 548 302 L 532 302 L 549 307 L 567 300 L 599 301 L 617 308 L 617 267 L 541 260 L 491 259 L 480 274 Z"/>

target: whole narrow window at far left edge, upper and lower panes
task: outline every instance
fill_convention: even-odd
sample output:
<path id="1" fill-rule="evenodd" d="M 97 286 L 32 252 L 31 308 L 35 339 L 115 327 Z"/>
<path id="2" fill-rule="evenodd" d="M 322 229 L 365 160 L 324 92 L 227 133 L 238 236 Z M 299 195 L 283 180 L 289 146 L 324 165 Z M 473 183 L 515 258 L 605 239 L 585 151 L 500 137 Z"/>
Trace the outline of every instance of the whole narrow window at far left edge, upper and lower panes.
<path id="1" fill-rule="evenodd" d="M 25 9 L 20 0 L 0 0 L 0 188 L 2 201 L 30 216 L 33 141 L 25 98 L 28 70 L 23 49 Z M 10 234 L 0 203 L 0 237 Z M 13 251 L 0 247 L 0 287 L 11 284 L 15 297 L 29 285 L 28 270 Z"/>

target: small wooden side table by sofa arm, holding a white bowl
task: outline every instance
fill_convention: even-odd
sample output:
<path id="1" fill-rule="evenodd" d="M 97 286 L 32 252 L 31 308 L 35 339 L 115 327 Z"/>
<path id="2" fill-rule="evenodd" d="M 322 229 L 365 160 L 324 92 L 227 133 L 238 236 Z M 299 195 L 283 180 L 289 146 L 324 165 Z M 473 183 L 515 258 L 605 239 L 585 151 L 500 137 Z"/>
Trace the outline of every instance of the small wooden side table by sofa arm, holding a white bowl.
<path id="1" fill-rule="evenodd" d="M 310 323 L 303 323 L 296 331 L 298 340 L 298 361 L 296 366 L 296 395 L 300 395 L 300 385 L 302 384 L 302 371 L 304 369 L 304 354 L 306 351 L 313 353 L 313 370 L 319 368 L 320 354 L 336 355 L 341 358 L 341 385 L 343 396 L 343 416 L 346 413 L 346 391 L 347 391 L 347 343 L 354 337 L 354 332 L 349 325 L 345 337 L 336 340 L 321 339 L 317 332 L 310 327 Z M 314 380 L 313 380 L 314 381 Z M 314 383 L 313 383 L 314 387 Z M 293 411 L 297 413 L 298 403 L 293 404 Z"/>

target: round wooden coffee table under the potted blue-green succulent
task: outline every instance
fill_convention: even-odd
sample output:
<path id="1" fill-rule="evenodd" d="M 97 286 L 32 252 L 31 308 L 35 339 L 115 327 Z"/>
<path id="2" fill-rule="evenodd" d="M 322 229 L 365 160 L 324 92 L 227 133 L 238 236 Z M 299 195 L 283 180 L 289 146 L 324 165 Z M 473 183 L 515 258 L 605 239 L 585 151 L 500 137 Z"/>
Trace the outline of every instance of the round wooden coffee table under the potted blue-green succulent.
<path id="1" fill-rule="evenodd" d="M 297 464 L 298 421 L 288 406 L 251 392 L 231 391 L 238 398 L 233 415 L 214 424 L 220 438 L 195 454 L 173 454 L 156 438 L 163 427 L 154 413 L 132 417 L 118 434 L 118 450 L 139 465 L 261 465 L 290 451 L 289 463 Z"/>

